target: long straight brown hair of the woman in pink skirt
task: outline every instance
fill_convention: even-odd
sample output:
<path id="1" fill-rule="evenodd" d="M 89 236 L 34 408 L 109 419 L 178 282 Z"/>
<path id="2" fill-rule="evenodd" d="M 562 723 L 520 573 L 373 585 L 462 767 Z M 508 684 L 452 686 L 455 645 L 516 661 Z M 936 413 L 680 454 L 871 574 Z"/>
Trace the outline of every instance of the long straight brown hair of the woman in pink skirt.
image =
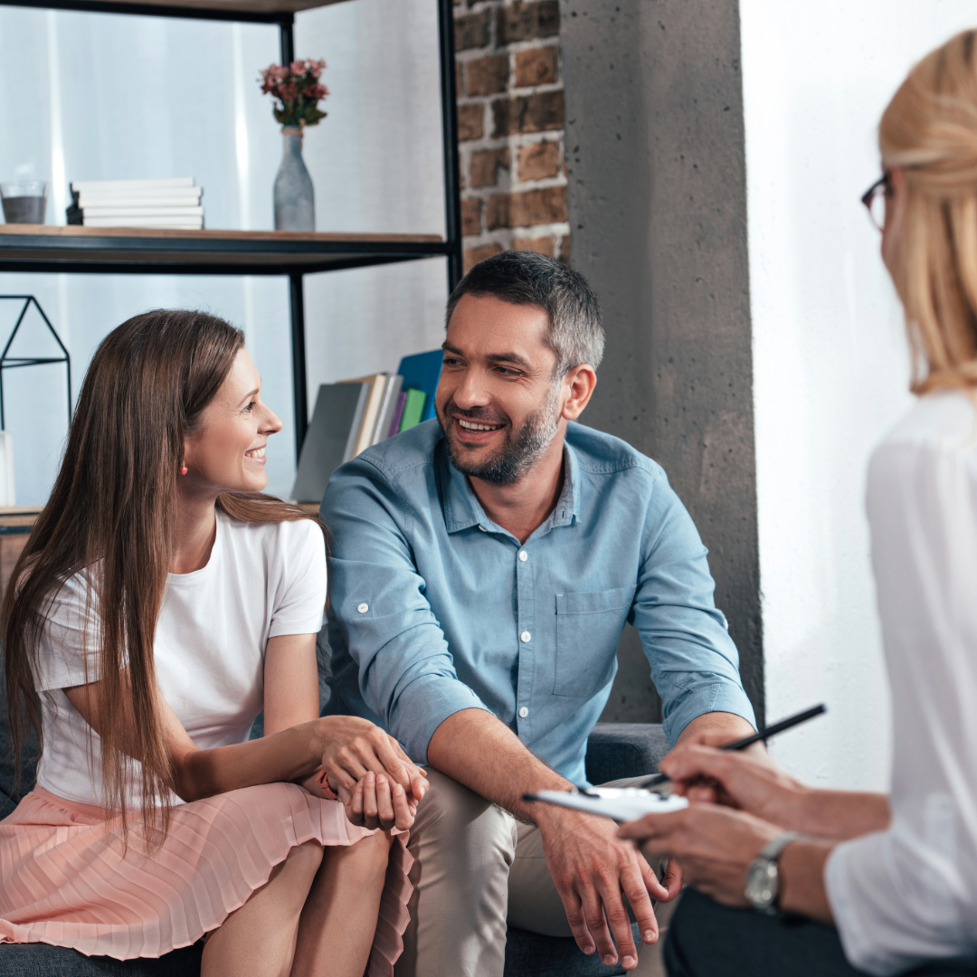
<path id="1" fill-rule="evenodd" d="M 173 770 L 163 739 L 153 666 L 153 636 L 176 525 L 184 437 L 231 371 L 244 344 L 240 329 L 214 316 L 157 310 L 123 322 L 99 346 L 78 398 L 61 471 L 17 562 L 0 610 L 8 709 L 20 777 L 21 746 L 31 727 L 41 742 L 34 686 L 38 643 L 51 602 L 75 573 L 86 572 L 88 611 L 97 621 L 94 674 L 102 740 L 102 792 L 122 813 L 142 766 L 148 829 L 169 822 Z M 247 523 L 310 517 L 261 493 L 230 493 L 217 506 Z M 127 673 L 126 674 L 126 669 Z M 130 698 L 135 739 L 125 731 Z M 123 751 L 123 746 L 128 752 Z"/>

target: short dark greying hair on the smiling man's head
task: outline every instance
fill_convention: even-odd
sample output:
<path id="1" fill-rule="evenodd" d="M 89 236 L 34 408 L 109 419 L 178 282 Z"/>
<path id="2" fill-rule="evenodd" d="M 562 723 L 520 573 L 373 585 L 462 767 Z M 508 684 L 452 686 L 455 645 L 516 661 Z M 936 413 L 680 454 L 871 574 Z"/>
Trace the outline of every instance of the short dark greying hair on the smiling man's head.
<path id="1" fill-rule="evenodd" d="M 556 354 L 554 378 L 604 358 L 604 326 L 597 297 L 587 279 L 561 261 L 534 251 L 503 251 L 476 265 L 447 300 L 445 328 L 463 295 L 486 296 L 531 305 L 549 317 L 545 343 Z"/>

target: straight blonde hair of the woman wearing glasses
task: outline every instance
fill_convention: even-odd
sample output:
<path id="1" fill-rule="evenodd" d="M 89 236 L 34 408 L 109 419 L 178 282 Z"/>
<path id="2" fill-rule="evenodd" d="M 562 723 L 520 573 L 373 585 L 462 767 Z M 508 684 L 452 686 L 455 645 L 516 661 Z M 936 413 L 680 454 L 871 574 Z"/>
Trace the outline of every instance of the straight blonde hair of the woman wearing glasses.
<path id="1" fill-rule="evenodd" d="M 906 177 L 901 292 L 914 393 L 977 387 L 975 37 L 964 30 L 916 64 L 878 127 L 883 168 Z"/>

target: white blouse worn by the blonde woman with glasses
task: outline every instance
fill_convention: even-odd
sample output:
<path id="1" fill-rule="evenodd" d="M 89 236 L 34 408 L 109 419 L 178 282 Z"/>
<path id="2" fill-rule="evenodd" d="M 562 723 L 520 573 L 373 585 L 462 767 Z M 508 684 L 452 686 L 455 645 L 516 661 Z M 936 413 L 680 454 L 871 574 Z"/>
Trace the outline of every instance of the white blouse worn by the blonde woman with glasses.
<path id="1" fill-rule="evenodd" d="M 977 412 L 929 394 L 872 455 L 871 562 L 892 687 L 892 824 L 831 853 L 871 974 L 977 948 Z"/>

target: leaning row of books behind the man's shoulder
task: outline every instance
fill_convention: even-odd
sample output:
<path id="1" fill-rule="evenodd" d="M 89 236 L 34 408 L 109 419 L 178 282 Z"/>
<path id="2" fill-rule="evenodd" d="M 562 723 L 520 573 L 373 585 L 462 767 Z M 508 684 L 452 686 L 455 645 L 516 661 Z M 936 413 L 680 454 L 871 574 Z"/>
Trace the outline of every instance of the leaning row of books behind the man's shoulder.
<path id="1" fill-rule="evenodd" d="M 323 383 L 299 457 L 292 497 L 319 502 L 329 476 L 365 448 L 434 417 L 441 350 L 404 357 L 395 374 Z"/>

